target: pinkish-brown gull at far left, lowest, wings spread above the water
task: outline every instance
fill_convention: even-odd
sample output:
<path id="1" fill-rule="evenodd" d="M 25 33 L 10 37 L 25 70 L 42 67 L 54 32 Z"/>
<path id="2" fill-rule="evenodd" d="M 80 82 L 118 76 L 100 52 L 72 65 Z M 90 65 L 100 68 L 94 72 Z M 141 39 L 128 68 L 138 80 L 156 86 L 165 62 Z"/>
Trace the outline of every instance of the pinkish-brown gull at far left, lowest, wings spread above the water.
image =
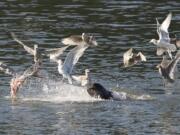
<path id="1" fill-rule="evenodd" d="M 16 73 L 13 69 L 9 68 L 3 62 L 0 62 L 0 71 L 4 72 L 5 74 L 11 75 L 12 79 L 10 81 L 10 89 L 11 89 L 11 98 L 15 99 L 16 94 L 23 83 L 26 81 L 27 78 L 36 76 L 40 68 L 39 60 L 36 59 L 35 63 L 27 68 L 23 73 Z"/>

